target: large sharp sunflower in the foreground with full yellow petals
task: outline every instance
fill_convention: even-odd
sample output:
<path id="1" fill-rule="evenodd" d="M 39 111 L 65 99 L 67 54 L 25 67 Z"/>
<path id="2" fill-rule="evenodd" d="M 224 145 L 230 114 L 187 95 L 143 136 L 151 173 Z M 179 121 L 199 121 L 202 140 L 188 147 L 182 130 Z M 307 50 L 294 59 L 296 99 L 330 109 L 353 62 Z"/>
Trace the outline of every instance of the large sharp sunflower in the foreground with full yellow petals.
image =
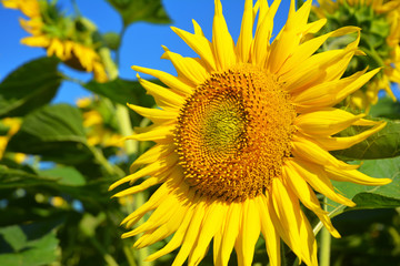
<path id="1" fill-rule="evenodd" d="M 317 265 L 314 235 L 300 202 L 340 237 L 314 191 L 354 206 L 334 191 L 330 180 L 364 185 L 390 182 L 369 177 L 357 171 L 358 165 L 329 153 L 384 126 L 364 120 L 364 114 L 333 108 L 379 69 L 341 79 L 358 53 L 360 35 L 344 49 L 316 51 L 328 38 L 359 33 L 359 29 L 341 28 L 306 40 L 326 23 L 324 19 L 308 23 L 311 2 L 296 11 L 291 1 L 288 21 L 270 43 L 280 1 L 269 7 L 266 0 L 256 6 L 247 0 L 234 43 L 217 0 L 211 41 L 196 21 L 194 33 L 172 28 L 199 55 L 183 58 L 163 48 L 162 58 L 173 63 L 178 76 L 133 66 L 168 86 L 138 75 L 159 109 L 130 105 L 153 124 L 127 139 L 156 145 L 133 162 L 132 174 L 110 186 L 133 185 L 114 195 L 121 197 L 160 184 L 149 201 L 122 222 L 130 228 L 152 212 L 146 223 L 122 235 L 143 233 L 134 243 L 137 248 L 173 234 L 148 260 L 180 247 L 173 265 L 187 259 L 188 265 L 198 265 L 212 239 L 216 265 L 227 265 L 233 248 L 239 265 L 251 265 L 261 233 L 271 265 L 280 265 L 281 239 L 301 262 Z M 358 135 L 334 136 L 351 125 L 368 127 Z M 134 184 L 141 177 L 144 181 Z"/>

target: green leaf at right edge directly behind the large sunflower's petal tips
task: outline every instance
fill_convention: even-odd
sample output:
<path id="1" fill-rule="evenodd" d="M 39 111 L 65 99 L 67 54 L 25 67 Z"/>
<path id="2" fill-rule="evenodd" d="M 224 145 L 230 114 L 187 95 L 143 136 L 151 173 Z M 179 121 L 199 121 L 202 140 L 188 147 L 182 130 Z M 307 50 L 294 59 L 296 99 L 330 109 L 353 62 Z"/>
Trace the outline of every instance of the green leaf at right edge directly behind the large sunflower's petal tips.
<path id="1" fill-rule="evenodd" d="M 400 121 L 382 120 L 387 125 L 367 140 L 332 154 L 341 160 L 390 158 L 400 155 Z M 351 136 L 367 130 L 367 126 L 351 126 L 340 136 Z"/>

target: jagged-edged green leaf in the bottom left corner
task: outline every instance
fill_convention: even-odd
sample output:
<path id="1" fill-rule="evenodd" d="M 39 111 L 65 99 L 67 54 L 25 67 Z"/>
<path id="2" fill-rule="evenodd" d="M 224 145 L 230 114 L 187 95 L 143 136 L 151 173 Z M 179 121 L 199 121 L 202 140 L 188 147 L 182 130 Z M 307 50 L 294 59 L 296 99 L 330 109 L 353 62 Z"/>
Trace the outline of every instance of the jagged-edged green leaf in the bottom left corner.
<path id="1" fill-rule="evenodd" d="M 54 229 L 39 237 L 34 237 L 34 231 L 28 231 L 26 234 L 20 226 L 14 225 L 1 228 L 0 235 L 4 237 L 8 244 L 14 245 L 16 239 L 12 239 L 12 243 L 10 243 L 9 235 L 17 232 L 18 235 L 16 235 L 14 238 L 21 237 L 21 241 L 18 243 L 20 249 L 14 250 L 14 253 L 1 253 L 0 262 L 2 266 L 51 265 L 59 257 L 57 250 L 59 241 L 57 239 Z"/>

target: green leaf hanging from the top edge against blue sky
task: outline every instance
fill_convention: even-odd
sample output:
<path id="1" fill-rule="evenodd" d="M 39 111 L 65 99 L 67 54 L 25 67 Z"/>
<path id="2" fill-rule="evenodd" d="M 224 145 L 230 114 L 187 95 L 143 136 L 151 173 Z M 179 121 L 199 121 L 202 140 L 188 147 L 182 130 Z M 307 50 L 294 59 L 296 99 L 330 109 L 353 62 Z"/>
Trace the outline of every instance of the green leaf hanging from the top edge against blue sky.
<path id="1" fill-rule="evenodd" d="M 161 0 L 107 0 L 122 17 L 124 27 L 137 22 L 171 23 Z"/>

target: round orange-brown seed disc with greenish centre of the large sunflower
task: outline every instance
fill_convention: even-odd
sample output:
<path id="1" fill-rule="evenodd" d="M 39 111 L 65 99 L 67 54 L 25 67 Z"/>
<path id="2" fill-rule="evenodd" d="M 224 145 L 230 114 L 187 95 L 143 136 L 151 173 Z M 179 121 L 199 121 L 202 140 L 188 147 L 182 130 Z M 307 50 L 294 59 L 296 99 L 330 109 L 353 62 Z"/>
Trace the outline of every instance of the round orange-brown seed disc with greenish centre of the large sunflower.
<path id="1" fill-rule="evenodd" d="M 294 106 L 271 74 L 249 65 L 213 73 L 180 110 L 176 130 L 186 182 L 226 202 L 264 193 L 291 155 Z"/>

